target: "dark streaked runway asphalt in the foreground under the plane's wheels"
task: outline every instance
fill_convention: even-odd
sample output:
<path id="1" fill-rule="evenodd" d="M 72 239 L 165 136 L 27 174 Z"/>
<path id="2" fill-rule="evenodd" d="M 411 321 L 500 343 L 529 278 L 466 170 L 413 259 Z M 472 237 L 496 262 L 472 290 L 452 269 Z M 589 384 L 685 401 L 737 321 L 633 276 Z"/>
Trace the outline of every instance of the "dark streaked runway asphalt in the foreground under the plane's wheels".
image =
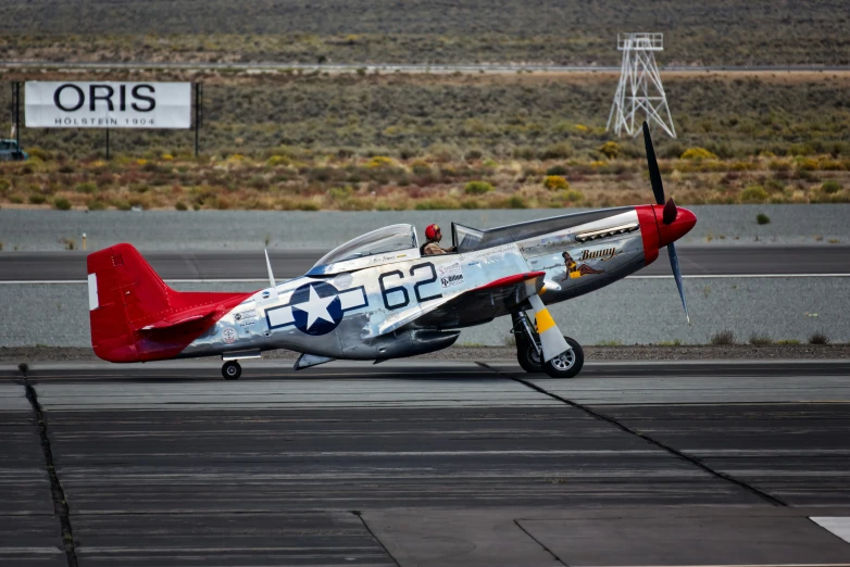
<path id="1" fill-rule="evenodd" d="M 847 361 L 220 364 L 0 365 L 0 563 L 850 565 Z"/>

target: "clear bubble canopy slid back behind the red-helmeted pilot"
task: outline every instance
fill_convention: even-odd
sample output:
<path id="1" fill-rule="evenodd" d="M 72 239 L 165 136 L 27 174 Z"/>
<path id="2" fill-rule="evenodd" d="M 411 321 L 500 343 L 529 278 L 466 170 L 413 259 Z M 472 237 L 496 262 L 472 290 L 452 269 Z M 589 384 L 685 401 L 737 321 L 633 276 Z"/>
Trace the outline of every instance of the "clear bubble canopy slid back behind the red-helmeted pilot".
<path id="1" fill-rule="evenodd" d="M 420 249 L 413 225 L 392 225 L 338 245 L 322 256 L 307 275 L 339 274 L 417 257 Z"/>

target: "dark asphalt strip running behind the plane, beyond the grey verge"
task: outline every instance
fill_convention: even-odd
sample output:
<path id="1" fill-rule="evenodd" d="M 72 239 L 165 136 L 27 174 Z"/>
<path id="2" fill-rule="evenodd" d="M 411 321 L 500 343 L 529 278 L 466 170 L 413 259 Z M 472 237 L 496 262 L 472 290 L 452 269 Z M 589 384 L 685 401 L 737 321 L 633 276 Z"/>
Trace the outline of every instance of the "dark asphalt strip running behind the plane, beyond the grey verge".
<path id="1" fill-rule="evenodd" d="M 850 245 L 690 245 L 677 249 L 686 276 L 850 274 Z M 278 278 L 303 275 L 326 250 L 292 249 L 268 252 Z M 150 252 L 145 257 L 163 279 L 267 278 L 262 251 Z M 670 275 L 668 262 L 658 261 L 638 273 Z M 0 281 L 85 280 L 86 252 L 4 252 Z"/>

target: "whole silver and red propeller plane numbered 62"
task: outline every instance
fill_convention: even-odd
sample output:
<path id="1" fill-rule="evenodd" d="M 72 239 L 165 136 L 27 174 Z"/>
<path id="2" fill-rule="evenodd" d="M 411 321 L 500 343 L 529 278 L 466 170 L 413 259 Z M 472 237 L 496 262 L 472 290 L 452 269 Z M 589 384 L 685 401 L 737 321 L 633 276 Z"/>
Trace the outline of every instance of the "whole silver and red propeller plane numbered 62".
<path id="1" fill-rule="evenodd" d="M 576 376 L 582 346 L 564 337 L 546 305 L 589 293 L 654 262 L 667 248 L 687 303 L 674 242 L 697 217 L 664 201 L 643 123 L 655 204 L 620 206 L 477 230 L 452 223 L 454 251 L 423 255 L 412 225 L 346 242 L 305 275 L 253 293 L 171 289 L 130 244 L 88 255 L 91 343 L 115 363 L 221 355 L 238 379 L 239 360 L 264 351 L 302 353 L 296 369 L 333 360 L 375 363 L 453 344 L 460 329 L 511 315 L 526 371 Z M 424 248 L 424 247 L 423 247 Z"/>

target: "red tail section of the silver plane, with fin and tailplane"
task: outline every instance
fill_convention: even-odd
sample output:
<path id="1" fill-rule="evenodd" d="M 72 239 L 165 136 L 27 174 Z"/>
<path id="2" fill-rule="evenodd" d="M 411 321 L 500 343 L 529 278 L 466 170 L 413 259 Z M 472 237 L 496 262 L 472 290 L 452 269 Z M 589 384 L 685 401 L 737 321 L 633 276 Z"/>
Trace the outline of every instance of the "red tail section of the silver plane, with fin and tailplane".
<path id="1" fill-rule="evenodd" d="M 174 291 L 130 244 L 88 255 L 91 346 L 104 361 L 173 358 L 250 295 Z"/>

